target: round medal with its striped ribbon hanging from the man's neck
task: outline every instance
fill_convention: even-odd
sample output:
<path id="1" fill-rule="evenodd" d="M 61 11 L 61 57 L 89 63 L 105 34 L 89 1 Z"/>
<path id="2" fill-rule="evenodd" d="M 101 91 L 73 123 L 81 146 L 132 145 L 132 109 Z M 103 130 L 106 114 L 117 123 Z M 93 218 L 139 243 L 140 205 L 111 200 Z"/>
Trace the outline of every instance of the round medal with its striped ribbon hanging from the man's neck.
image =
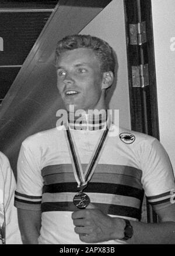
<path id="1" fill-rule="evenodd" d="M 86 168 L 85 173 L 83 173 L 78 150 L 76 149 L 76 144 L 74 142 L 74 137 L 71 136 L 71 131 L 69 130 L 69 127 L 67 127 L 66 129 L 67 138 L 68 138 L 68 148 L 71 156 L 72 167 L 74 169 L 74 176 L 75 176 L 76 182 L 78 183 L 78 188 L 80 190 L 79 193 L 75 194 L 73 199 L 73 203 L 75 204 L 76 207 L 78 207 L 78 209 L 85 209 L 90 203 L 89 196 L 88 194 L 83 193 L 83 189 L 85 189 L 85 187 L 88 186 L 88 182 L 92 178 L 92 175 L 95 172 L 97 163 L 99 162 L 99 159 L 102 153 L 103 144 L 108 133 L 108 125 L 109 125 L 109 121 L 106 124 L 106 129 L 104 130 L 102 136 L 100 136 L 99 141 L 95 146 L 95 149 L 93 151 L 92 157 Z"/>

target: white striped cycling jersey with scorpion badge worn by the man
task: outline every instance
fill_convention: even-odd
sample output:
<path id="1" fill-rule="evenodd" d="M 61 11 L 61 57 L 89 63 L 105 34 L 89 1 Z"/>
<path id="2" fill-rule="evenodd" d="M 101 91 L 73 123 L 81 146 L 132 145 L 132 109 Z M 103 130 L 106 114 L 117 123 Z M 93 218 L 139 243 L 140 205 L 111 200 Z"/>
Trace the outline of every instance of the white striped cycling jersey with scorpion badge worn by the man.
<path id="1" fill-rule="evenodd" d="M 114 130 L 108 132 L 95 173 L 84 190 L 90 202 L 112 217 L 131 220 L 141 219 L 144 191 L 155 210 L 169 206 L 175 185 L 163 147 L 148 135 L 122 128 L 116 135 Z M 71 129 L 83 170 L 101 132 Z M 54 128 L 27 138 L 20 149 L 17 175 L 16 207 L 42 212 L 39 243 L 81 244 L 71 219 L 77 210 L 73 198 L 78 188 L 66 131 Z"/>

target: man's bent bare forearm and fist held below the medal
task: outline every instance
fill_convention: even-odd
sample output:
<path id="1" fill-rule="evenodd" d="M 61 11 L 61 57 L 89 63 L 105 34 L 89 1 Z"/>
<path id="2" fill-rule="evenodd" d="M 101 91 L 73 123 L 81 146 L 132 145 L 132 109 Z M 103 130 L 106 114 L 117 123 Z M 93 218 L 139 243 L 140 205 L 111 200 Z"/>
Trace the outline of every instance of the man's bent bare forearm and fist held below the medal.
<path id="1" fill-rule="evenodd" d="M 174 206 L 175 204 L 168 208 L 169 211 L 163 210 L 164 214 L 159 215 L 160 218 L 162 217 L 161 223 L 130 221 L 134 234 L 127 242 L 129 244 L 175 244 Z M 167 216 L 165 216 L 165 212 Z M 110 217 L 99 209 L 74 211 L 72 220 L 75 225 L 75 233 L 79 234 L 80 240 L 85 243 L 122 240 L 127 236 L 124 219 Z"/>

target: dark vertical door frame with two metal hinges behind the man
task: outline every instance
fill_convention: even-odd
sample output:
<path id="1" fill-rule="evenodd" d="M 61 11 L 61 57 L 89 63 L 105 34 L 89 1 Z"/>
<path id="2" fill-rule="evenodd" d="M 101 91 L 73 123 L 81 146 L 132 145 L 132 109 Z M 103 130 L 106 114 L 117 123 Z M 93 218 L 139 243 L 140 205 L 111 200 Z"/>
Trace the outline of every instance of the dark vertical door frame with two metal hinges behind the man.
<path id="1" fill-rule="evenodd" d="M 151 0 L 124 0 L 125 30 L 127 41 L 129 101 L 131 129 L 159 139 L 159 118 L 157 107 L 156 67 L 153 43 L 153 23 Z M 146 42 L 131 44 L 131 24 L 145 22 Z M 130 25 L 130 26 L 129 26 Z M 149 85 L 133 87 L 132 67 L 148 64 Z M 142 85 L 141 85 L 142 86 Z M 143 200 L 143 221 L 157 222 L 157 215 Z"/>

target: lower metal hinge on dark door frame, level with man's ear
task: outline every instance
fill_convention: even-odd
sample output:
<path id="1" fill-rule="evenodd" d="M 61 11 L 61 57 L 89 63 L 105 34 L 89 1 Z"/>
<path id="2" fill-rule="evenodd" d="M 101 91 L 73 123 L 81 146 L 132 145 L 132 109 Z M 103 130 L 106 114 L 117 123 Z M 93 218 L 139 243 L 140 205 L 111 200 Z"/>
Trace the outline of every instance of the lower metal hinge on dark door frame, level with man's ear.
<path id="1" fill-rule="evenodd" d="M 132 87 L 149 86 L 148 64 L 132 66 Z"/>

